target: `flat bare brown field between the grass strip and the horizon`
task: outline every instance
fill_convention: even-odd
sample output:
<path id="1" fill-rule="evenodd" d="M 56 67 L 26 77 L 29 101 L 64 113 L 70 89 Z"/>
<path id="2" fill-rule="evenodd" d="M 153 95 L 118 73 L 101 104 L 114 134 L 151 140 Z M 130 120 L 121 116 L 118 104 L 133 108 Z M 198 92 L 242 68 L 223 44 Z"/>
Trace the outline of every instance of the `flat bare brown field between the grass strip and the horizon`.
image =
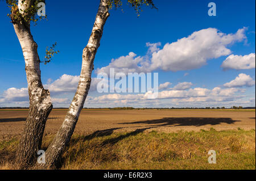
<path id="1" fill-rule="evenodd" d="M 53 110 L 46 124 L 46 134 L 60 128 L 67 110 Z M 0 135 L 22 133 L 27 110 L 0 110 Z M 200 131 L 214 128 L 255 129 L 255 111 L 230 110 L 82 110 L 75 132 L 90 134 L 96 131 L 162 132 Z"/>

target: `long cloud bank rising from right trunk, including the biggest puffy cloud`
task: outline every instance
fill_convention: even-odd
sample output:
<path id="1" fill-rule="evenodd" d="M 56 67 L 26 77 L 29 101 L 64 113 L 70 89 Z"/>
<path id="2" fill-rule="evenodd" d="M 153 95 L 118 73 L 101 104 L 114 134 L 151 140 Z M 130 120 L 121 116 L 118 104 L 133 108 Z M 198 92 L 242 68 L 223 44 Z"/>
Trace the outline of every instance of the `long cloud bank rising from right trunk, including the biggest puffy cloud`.
<path id="1" fill-rule="evenodd" d="M 137 56 L 130 52 L 127 56 L 112 59 L 108 66 L 98 68 L 96 73 L 114 68 L 115 72 L 150 72 L 154 70 L 179 71 L 197 69 L 207 64 L 207 61 L 231 54 L 228 48 L 235 42 L 246 40 L 245 31 L 241 28 L 236 33 L 225 34 L 216 28 L 195 31 L 188 37 L 183 37 L 174 43 L 167 43 L 162 49 L 160 43 L 146 43 L 148 47 L 145 56 Z"/>

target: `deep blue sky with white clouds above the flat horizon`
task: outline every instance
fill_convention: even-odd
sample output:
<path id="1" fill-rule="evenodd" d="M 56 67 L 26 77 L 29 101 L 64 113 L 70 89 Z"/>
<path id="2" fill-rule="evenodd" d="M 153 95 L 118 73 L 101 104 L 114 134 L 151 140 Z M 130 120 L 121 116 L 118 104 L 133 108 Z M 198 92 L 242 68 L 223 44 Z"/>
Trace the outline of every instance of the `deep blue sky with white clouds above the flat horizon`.
<path id="1" fill-rule="evenodd" d="M 41 65 L 42 82 L 52 89 L 53 106 L 68 107 L 76 90 L 82 49 L 92 31 L 98 1 L 46 2 L 48 20 L 31 26 L 31 32 L 41 59 L 46 47 L 57 42 L 60 53 L 49 64 Z M 216 3 L 217 16 L 208 15 L 209 2 Z M 92 86 L 85 107 L 255 106 L 255 1 L 159 0 L 155 5 L 158 10 L 144 7 L 139 18 L 126 3 L 123 12 L 110 10 L 94 70 L 116 68 L 110 65 L 111 61 L 130 61 L 134 68 L 134 59 L 139 57 L 142 60 L 135 70 L 158 72 L 159 85 L 168 82 L 159 90 L 163 91 L 159 99 L 98 93 Z M 0 106 L 28 106 L 22 49 L 8 13 L 5 2 L 0 2 Z M 195 38 L 188 38 L 190 35 Z M 230 42 L 226 43 L 226 39 Z M 205 42 L 209 49 L 203 47 Z M 146 43 L 152 46 L 147 47 Z M 150 53 L 148 49 L 154 48 L 154 43 L 161 45 L 155 44 Z M 130 52 L 136 56 L 122 58 Z M 221 67 L 225 60 L 226 70 Z M 254 65 L 246 62 L 253 60 Z M 144 61 L 150 61 L 151 66 L 143 67 Z M 127 71 L 130 68 L 123 67 Z M 179 88 L 175 88 L 179 83 Z M 63 90 L 57 91 L 55 88 L 60 85 L 64 85 Z"/>

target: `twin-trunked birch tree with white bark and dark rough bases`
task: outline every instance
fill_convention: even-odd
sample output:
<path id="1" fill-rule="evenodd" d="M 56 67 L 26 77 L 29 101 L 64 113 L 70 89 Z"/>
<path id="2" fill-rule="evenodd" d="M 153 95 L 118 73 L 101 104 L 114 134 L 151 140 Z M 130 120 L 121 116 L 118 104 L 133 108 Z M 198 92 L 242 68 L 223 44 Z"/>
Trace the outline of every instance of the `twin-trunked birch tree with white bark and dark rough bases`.
<path id="1" fill-rule="evenodd" d="M 46 120 L 52 110 L 49 91 L 43 88 L 40 78 L 40 60 L 37 53 L 38 45 L 33 40 L 30 32 L 30 21 L 35 20 L 35 7 L 39 2 L 42 1 L 19 0 L 18 5 L 14 3 L 12 6 L 11 13 L 11 17 L 14 17 L 11 18 L 14 24 L 14 30 L 23 50 L 28 94 L 30 96 L 30 110 L 26 120 L 26 127 L 16 154 L 16 162 L 24 168 L 35 163 L 36 153 L 42 143 Z M 127 3 L 135 9 L 138 15 L 141 12 L 142 5 L 156 8 L 152 0 L 127 0 Z M 41 169 L 55 168 L 65 146 L 70 141 L 90 89 L 93 61 L 98 47 L 100 47 L 104 25 L 110 15 L 109 10 L 121 7 L 121 0 L 100 0 L 92 33 L 86 47 L 82 51 L 82 67 L 76 94 L 69 106 L 61 128 L 46 150 L 46 164 L 37 165 L 36 167 Z M 15 16 L 16 14 L 17 16 Z"/>

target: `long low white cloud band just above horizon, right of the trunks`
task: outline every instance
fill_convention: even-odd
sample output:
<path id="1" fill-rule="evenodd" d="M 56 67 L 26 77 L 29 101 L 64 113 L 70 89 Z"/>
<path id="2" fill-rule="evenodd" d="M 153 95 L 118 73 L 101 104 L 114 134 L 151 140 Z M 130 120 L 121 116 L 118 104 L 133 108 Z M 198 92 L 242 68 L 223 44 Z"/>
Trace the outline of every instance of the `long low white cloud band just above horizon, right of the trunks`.
<path id="1" fill-rule="evenodd" d="M 221 87 L 214 87 L 214 89 L 205 89 L 201 87 L 196 87 L 195 89 L 189 90 L 164 90 L 160 91 L 156 99 L 148 99 L 147 93 L 144 94 L 106 94 L 101 96 L 96 96 L 95 98 L 86 99 L 86 104 L 113 104 L 113 105 L 123 105 L 123 103 L 130 103 L 132 105 L 142 103 L 152 104 L 160 103 L 159 101 L 169 100 L 169 104 L 172 102 L 179 103 L 200 103 L 200 102 L 228 102 L 233 101 L 243 96 L 235 95 L 236 92 L 243 92 L 243 89 L 238 88 L 228 88 L 221 89 Z M 132 106 L 131 105 L 131 106 Z M 168 102 L 165 103 L 168 105 Z"/>

